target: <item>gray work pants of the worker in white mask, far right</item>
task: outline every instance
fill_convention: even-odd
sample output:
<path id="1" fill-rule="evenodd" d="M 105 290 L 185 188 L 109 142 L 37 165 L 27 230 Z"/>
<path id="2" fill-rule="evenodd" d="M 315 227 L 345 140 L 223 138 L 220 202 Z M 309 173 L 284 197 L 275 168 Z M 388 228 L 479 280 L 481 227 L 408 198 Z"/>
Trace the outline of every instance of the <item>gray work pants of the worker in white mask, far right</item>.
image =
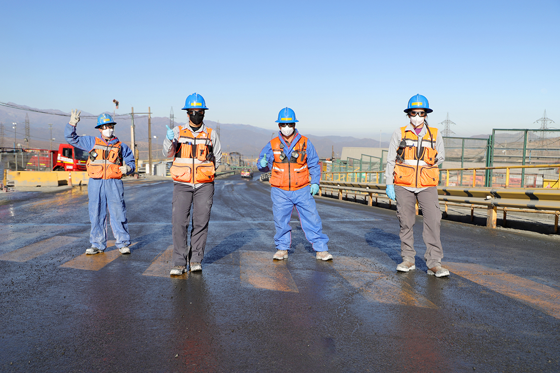
<path id="1" fill-rule="evenodd" d="M 441 266 L 444 249 L 441 247 L 441 210 L 437 201 L 437 187 L 429 187 L 420 192 L 411 192 L 395 185 L 396 216 L 400 223 L 400 256 L 403 261 L 414 263 L 414 236 L 412 227 L 416 221 L 416 201 L 422 209 L 424 230 L 422 239 L 426 244 L 424 259 L 428 268 Z"/>

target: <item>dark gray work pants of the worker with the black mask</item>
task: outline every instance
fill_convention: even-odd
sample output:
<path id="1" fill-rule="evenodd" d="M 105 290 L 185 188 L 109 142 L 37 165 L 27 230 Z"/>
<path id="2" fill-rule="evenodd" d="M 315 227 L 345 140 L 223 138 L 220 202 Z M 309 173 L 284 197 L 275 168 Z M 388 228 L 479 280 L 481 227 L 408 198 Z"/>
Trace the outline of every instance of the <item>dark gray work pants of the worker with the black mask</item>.
<path id="1" fill-rule="evenodd" d="M 202 263 L 208 221 L 214 197 L 214 183 L 193 188 L 189 185 L 174 183 L 173 185 L 173 266 L 187 266 L 190 263 Z M 193 227 L 190 232 L 190 249 L 186 233 L 189 228 L 190 206 L 193 206 Z"/>

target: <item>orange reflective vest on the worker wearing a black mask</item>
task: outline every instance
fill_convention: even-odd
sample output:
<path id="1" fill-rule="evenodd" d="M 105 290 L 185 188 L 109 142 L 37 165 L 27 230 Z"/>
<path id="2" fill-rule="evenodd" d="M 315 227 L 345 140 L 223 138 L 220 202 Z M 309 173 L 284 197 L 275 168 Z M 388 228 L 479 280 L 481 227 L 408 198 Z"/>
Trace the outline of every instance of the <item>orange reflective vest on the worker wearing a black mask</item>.
<path id="1" fill-rule="evenodd" d="M 188 126 L 179 126 L 179 146 L 169 169 L 173 180 L 193 184 L 214 181 L 212 129 L 206 130 L 208 133 L 201 131 L 195 136 Z"/>

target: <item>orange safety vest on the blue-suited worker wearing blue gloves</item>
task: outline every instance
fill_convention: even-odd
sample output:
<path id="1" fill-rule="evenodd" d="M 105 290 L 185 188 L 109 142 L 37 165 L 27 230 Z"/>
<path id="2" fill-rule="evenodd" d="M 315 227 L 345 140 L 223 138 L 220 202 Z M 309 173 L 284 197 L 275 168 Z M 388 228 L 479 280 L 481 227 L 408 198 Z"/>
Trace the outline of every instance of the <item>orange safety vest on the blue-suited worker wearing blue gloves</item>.
<path id="1" fill-rule="evenodd" d="M 307 138 L 301 136 L 289 156 L 284 153 L 284 144 L 280 138 L 270 140 L 270 146 L 274 154 L 270 185 L 283 190 L 298 190 L 308 185 Z"/>

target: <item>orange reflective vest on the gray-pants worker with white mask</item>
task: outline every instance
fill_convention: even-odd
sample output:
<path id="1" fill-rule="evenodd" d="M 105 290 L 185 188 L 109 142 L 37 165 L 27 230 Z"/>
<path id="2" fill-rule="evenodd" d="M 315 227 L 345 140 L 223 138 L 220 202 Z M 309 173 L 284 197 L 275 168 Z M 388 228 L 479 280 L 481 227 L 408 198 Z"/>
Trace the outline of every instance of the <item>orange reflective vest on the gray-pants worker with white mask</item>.
<path id="1" fill-rule="evenodd" d="M 397 149 L 394 170 L 394 184 L 400 186 L 423 188 L 437 186 L 440 183 L 440 169 L 436 166 L 437 128 L 428 128 L 422 137 L 418 149 L 418 135 L 414 131 L 400 128 L 401 141 Z"/>

